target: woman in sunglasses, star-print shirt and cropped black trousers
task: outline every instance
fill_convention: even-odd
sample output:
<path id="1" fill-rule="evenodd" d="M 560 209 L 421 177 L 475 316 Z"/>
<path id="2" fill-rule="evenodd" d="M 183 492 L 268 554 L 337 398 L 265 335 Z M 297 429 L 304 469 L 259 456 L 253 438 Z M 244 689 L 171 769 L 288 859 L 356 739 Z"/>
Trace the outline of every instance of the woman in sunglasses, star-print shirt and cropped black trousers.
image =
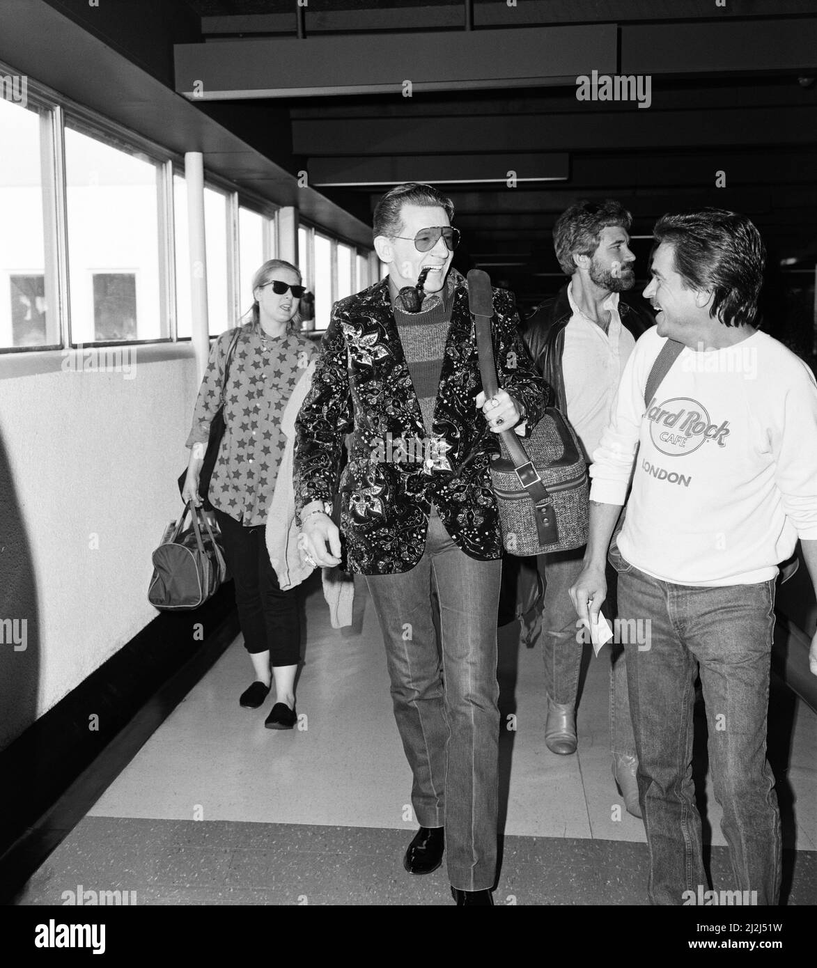
<path id="1" fill-rule="evenodd" d="M 213 469 L 208 497 L 224 538 L 235 580 L 235 602 L 250 653 L 255 681 L 239 703 L 261 706 L 275 680 L 275 703 L 268 729 L 291 729 L 295 713 L 295 673 L 300 661 L 300 613 L 296 590 L 281 590 L 267 554 L 264 530 L 286 439 L 281 416 L 292 390 L 316 348 L 296 332 L 304 287 L 298 269 L 270 259 L 253 278 L 250 320 L 240 327 L 224 387 L 226 430 Z M 198 391 L 185 500 L 201 503 L 198 476 L 210 432 L 221 406 L 227 352 L 235 330 L 218 338 Z"/>

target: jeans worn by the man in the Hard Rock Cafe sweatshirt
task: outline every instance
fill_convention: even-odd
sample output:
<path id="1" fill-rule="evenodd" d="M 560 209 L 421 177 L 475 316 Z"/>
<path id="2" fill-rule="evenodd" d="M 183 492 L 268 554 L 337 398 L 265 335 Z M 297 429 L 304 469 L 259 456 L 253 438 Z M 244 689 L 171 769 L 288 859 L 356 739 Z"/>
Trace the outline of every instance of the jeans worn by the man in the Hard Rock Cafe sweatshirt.
<path id="1" fill-rule="evenodd" d="M 626 644 L 639 801 L 650 848 L 653 904 L 707 890 L 692 782 L 692 712 L 700 668 L 709 755 L 731 890 L 780 892 L 780 816 L 766 759 L 774 581 L 719 588 L 674 585 L 624 560 L 616 545 L 619 613 L 650 620 L 646 644 Z"/>

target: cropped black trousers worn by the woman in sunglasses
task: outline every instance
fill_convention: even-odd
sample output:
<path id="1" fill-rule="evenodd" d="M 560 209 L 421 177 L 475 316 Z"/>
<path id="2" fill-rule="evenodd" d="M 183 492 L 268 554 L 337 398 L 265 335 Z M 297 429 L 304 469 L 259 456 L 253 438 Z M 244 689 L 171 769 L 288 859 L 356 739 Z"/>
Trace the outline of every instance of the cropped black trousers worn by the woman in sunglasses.
<path id="1" fill-rule="evenodd" d="M 273 666 L 297 665 L 301 658 L 297 589 L 281 590 L 267 554 L 264 525 L 248 528 L 218 508 L 215 513 L 235 581 L 245 648 L 251 653 L 269 650 Z"/>

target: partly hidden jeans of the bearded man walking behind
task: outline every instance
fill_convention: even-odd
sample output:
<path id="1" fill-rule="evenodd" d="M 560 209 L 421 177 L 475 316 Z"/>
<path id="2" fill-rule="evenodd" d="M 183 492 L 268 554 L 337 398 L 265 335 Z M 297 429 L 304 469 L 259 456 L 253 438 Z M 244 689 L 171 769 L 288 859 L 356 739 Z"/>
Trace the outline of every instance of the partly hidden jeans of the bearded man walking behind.
<path id="1" fill-rule="evenodd" d="M 585 549 L 538 555 L 536 566 L 545 585 L 541 613 L 523 617 L 523 641 L 532 643 L 541 625 L 542 653 L 545 659 L 545 690 L 555 703 L 575 705 L 582 665 L 582 639 L 577 641 L 578 620 L 568 589 L 582 572 Z M 616 618 L 615 570 L 608 569 L 605 614 L 611 624 Z M 630 722 L 627 696 L 627 669 L 624 650 L 610 643 L 610 749 L 616 754 L 635 756 L 635 740 Z M 603 655 L 603 653 L 602 653 Z"/>

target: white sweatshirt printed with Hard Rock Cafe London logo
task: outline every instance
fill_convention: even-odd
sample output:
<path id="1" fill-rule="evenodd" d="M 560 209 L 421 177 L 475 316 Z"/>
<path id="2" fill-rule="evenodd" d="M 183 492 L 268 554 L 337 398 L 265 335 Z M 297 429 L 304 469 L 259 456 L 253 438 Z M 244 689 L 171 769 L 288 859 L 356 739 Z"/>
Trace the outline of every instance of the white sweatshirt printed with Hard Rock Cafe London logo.
<path id="1" fill-rule="evenodd" d="M 798 537 L 817 539 L 817 383 L 756 332 L 735 347 L 683 348 L 645 413 L 666 340 L 636 343 L 593 453 L 590 500 L 622 504 L 623 558 L 678 585 L 767 581 Z"/>

